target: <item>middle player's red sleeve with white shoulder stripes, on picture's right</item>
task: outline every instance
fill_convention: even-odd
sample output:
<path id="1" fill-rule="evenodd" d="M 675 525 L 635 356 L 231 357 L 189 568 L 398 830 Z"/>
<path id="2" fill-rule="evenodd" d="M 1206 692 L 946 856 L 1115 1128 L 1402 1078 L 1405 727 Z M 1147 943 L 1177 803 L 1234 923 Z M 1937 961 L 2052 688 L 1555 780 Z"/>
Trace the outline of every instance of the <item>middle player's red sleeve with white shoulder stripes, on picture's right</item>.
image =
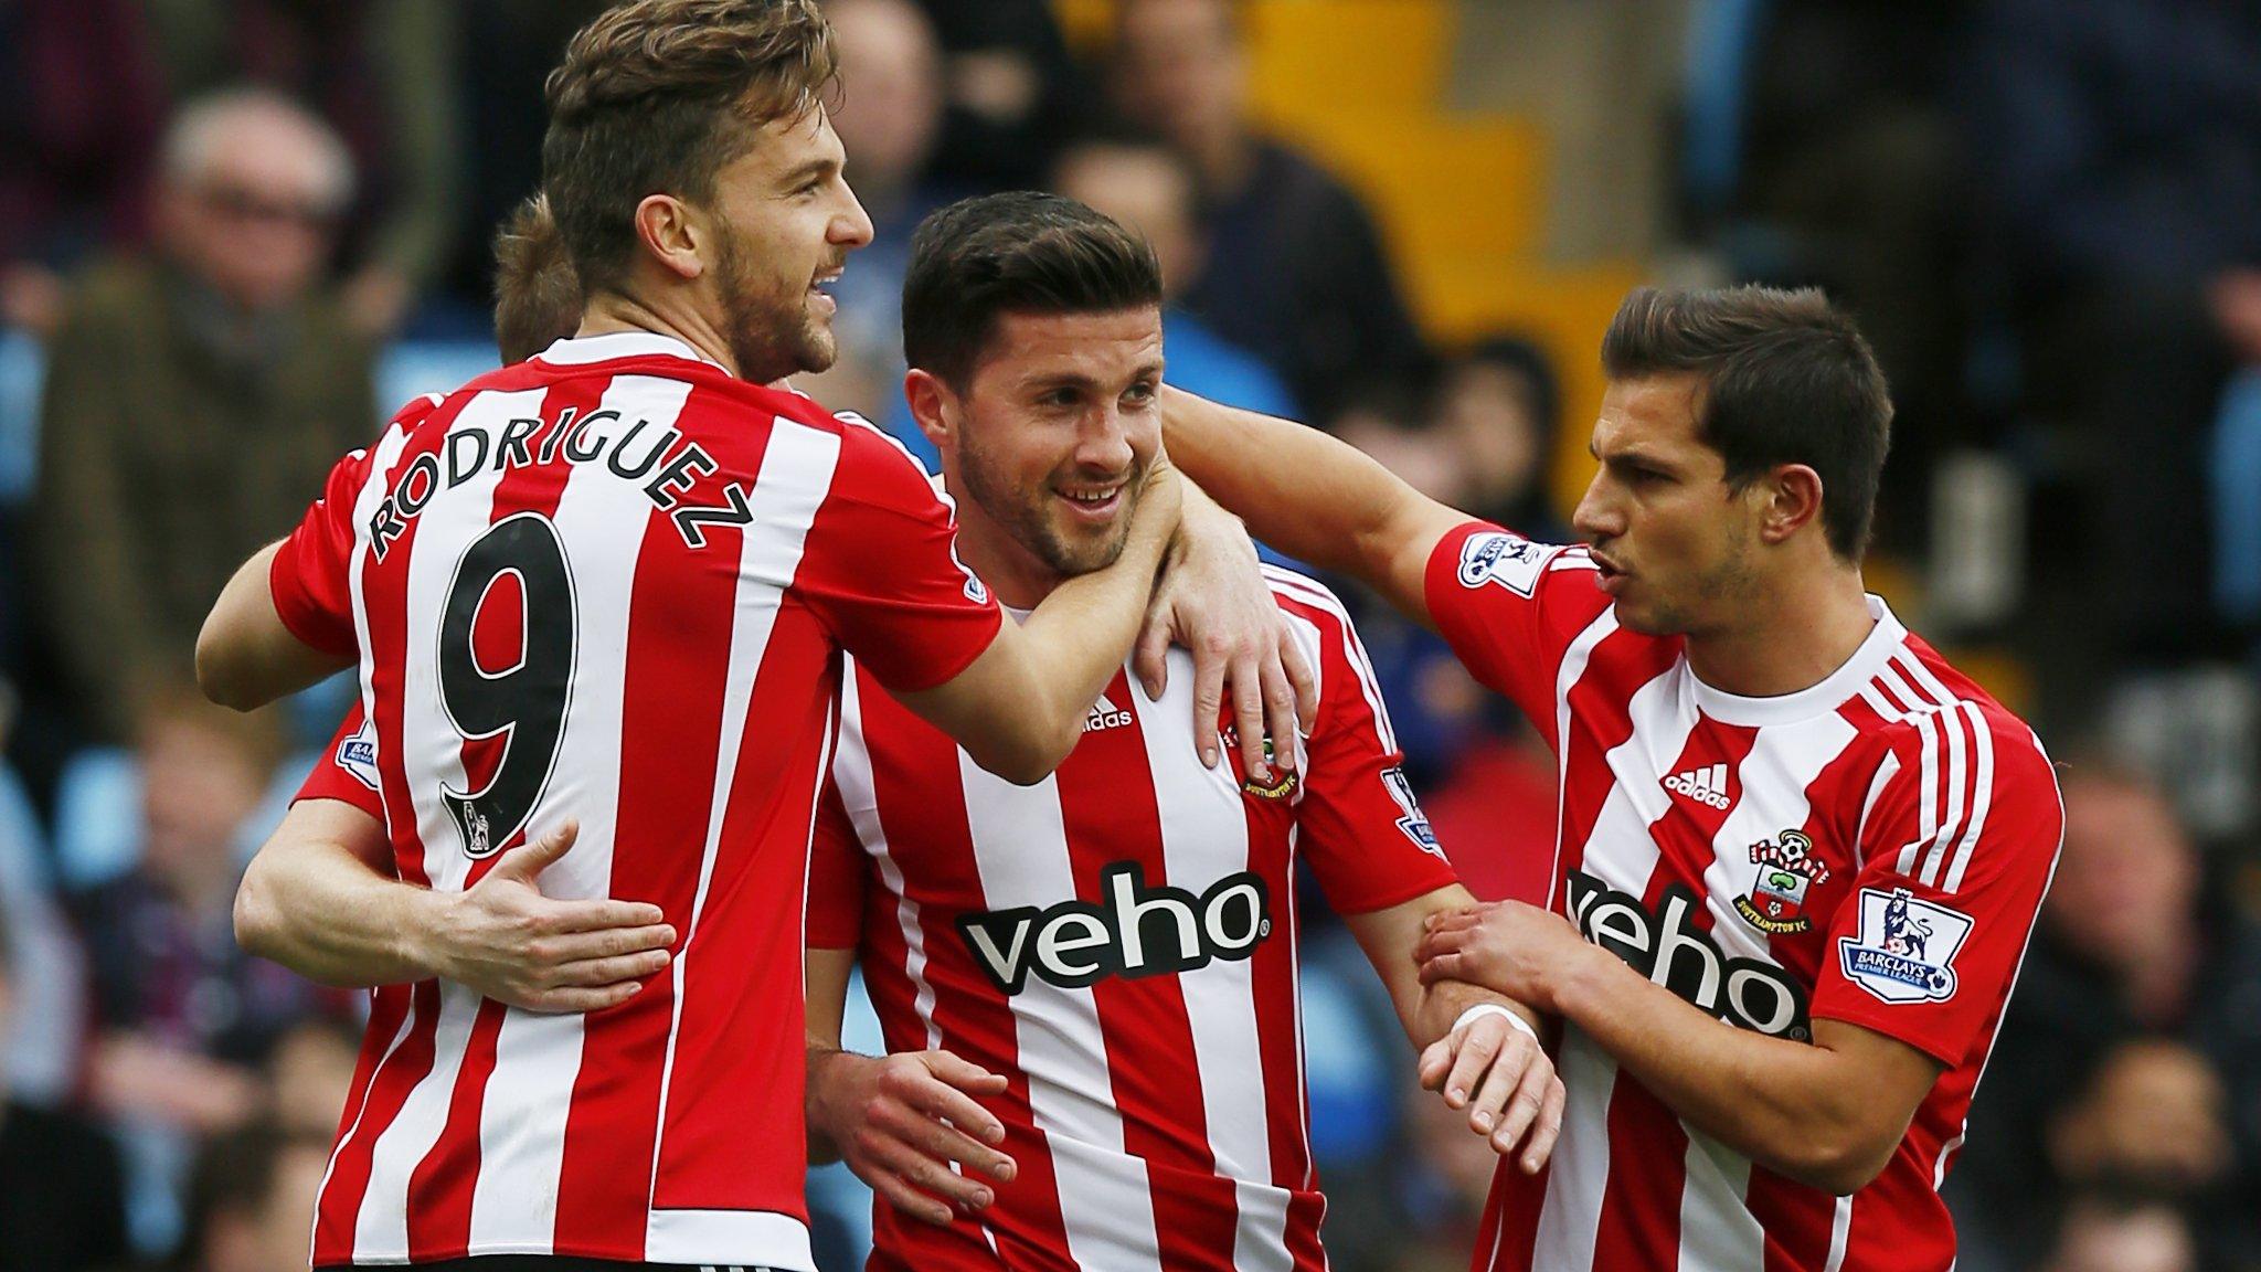
<path id="1" fill-rule="evenodd" d="M 1307 595 L 1302 586 L 1311 588 L 1309 604 L 1300 600 Z M 1282 600 L 1282 609 L 1318 631 L 1320 706 L 1298 779 L 1298 851 L 1311 862 L 1334 910 L 1388 910 L 1447 887 L 1456 876 L 1413 799 L 1359 634 L 1332 593 L 1309 582 L 1302 586 L 1293 593 L 1298 600 Z"/>

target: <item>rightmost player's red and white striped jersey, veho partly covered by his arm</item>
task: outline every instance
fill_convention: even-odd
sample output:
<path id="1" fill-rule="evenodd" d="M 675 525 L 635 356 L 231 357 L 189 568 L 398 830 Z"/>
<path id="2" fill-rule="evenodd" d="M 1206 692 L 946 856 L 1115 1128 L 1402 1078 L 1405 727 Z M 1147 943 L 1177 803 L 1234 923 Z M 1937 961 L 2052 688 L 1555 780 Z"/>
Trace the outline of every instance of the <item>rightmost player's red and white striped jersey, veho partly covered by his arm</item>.
<path id="1" fill-rule="evenodd" d="M 1549 903 L 1589 942 L 1736 1028 L 1849 1021 L 1947 1066 L 1883 1175 L 1831 1197 L 1696 1132 L 1565 1028 L 1562 1138 L 1542 1175 L 1495 1175 L 1474 1267 L 1949 1267 L 1938 1186 L 2064 826 L 2033 731 L 1874 598 L 1843 668 L 1752 699 L 1698 681 L 1680 638 L 1619 627 L 1583 548 L 1470 523 L 1424 591 L 1556 749 Z"/>

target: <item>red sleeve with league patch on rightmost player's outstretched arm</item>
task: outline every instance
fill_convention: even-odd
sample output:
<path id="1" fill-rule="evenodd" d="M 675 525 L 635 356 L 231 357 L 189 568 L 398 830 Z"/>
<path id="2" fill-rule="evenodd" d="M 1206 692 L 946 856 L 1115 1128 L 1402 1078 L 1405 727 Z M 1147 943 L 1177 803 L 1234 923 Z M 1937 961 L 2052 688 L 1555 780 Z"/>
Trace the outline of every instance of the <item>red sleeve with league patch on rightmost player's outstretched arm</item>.
<path id="1" fill-rule="evenodd" d="M 1429 555 L 1422 600 L 1470 674 L 1515 702 L 1553 742 L 1562 654 L 1610 607 L 1594 577 L 1585 548 L 1470 521 Z"/>

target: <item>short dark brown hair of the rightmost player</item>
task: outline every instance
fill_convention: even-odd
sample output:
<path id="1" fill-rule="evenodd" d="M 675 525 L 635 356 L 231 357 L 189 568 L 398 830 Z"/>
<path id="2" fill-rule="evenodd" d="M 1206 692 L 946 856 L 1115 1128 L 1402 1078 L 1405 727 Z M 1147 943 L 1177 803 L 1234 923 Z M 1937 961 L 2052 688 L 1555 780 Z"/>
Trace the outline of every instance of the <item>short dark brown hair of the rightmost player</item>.
<path id="1" fill-rule="evenodd" d="M 1637 287 L 1601 337 L 1612 380 L 1693 371 L 1705 380 L 1698 430 L 1745 484 L 1775 464 L 1822 480 L 1829 550 L 1859 561 L 1892 444 L 1892 396 L 1868 340 L 1820 290 Z"/>

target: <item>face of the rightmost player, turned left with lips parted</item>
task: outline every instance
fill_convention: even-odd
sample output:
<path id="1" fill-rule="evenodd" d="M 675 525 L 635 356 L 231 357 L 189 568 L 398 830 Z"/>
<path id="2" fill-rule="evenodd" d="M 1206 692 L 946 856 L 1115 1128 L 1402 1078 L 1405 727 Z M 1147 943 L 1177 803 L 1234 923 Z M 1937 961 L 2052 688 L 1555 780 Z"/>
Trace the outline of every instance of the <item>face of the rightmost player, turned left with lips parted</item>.
<path id="1" fill-rule="evenodd" d="M 1612 380 L 1594 421 L 1601 471 L 1571 525 L 1594 545 L 1617 618 L 1648 636 L 1707 636 L 1759 591 L 1752 498 L 1698 437 L 1703 378 Z"/>

